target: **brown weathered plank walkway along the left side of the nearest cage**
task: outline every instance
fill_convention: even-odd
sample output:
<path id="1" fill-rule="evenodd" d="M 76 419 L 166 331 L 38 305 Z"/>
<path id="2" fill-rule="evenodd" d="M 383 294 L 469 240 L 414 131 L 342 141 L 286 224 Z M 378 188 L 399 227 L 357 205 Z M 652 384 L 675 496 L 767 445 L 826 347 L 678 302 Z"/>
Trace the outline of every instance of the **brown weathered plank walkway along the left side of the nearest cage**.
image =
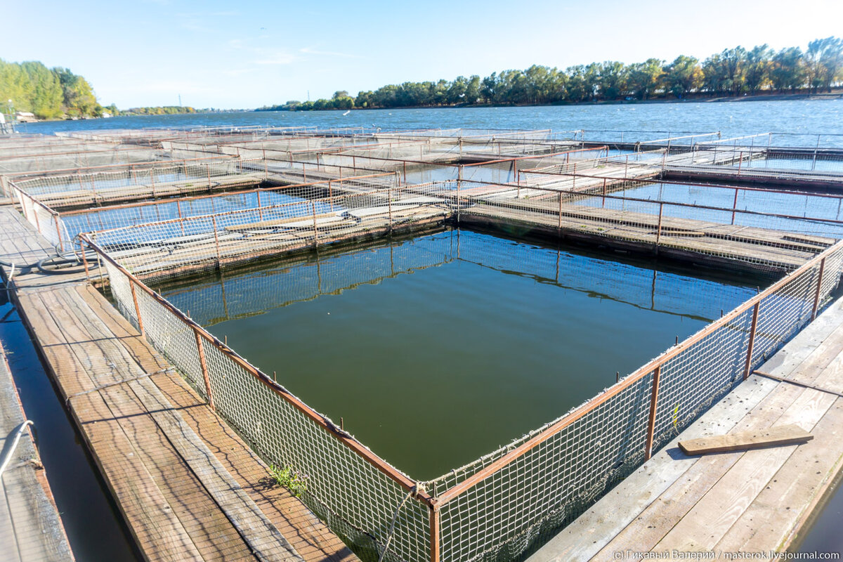
<path id="1" fill-rule="evenodd" d="M 0 232 L 15 224 L 0 207 Z M 0 260 L 49 248 L 31 228 L 8 238 Z M 19 312 L 146 559 L 356 559 L 92 286 L 16 279 Z"/>

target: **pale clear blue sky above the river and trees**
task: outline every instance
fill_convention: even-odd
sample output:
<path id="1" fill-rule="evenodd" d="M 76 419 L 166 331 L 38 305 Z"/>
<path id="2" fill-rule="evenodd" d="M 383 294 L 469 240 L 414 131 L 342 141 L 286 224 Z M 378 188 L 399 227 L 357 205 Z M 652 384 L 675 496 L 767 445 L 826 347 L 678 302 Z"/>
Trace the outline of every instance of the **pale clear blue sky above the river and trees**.
<path id="1" fill-rule="evenodd" d="M 0 57 L 69 67 L 121 108 L 179 94 L 252 108 L 534 63 L 669 62 L 843 36 L 843 0 L 30 0 L 0 13 Z"/>

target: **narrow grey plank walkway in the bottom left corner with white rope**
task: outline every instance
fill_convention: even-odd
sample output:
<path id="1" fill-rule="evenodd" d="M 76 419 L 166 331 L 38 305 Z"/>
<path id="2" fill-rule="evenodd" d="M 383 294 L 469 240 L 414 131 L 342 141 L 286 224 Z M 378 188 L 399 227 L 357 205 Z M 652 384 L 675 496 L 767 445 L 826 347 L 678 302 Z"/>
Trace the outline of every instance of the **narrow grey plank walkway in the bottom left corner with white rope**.
<path id="1" fill-rule="evenodd" d="M 0 345 L 0 451 L 12 446 L 24 420 L 6 352 Z M 32 433 L 24 431 L 0 478 L 0 562 L 73 559 L 44 472 Z"/>

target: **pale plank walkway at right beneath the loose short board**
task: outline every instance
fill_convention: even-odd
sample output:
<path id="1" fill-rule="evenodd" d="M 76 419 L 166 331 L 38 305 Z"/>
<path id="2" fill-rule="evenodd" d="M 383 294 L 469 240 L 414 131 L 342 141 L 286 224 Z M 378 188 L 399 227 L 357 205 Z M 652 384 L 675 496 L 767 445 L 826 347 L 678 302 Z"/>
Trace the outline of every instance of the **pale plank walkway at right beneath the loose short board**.
<path id="1" fill-rule="evenodd" d="M 612 560 L 652 552 L 768 553 L 799 542 L 843 468 L 843 299 L 529 558 Z M 688 457 L 679 440 L 796 424 L 803 445 Z M 769 556 L 768 556 L 769 558 Z M 721 557 L 721 559 L 723 559 Z"/>

